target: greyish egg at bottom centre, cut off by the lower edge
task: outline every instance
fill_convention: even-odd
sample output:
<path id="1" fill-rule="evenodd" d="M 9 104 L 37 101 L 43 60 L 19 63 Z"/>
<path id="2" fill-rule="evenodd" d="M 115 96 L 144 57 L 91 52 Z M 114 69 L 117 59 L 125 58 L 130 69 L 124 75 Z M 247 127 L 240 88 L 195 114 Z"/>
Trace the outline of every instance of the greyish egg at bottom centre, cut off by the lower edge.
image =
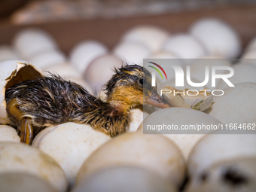
<path id="1" fill-rule="evenodd" d="M 113 166 L 84 178 L 72 192 L 176 192 L 176 187 L 153 172 L 133 166 Z"/>

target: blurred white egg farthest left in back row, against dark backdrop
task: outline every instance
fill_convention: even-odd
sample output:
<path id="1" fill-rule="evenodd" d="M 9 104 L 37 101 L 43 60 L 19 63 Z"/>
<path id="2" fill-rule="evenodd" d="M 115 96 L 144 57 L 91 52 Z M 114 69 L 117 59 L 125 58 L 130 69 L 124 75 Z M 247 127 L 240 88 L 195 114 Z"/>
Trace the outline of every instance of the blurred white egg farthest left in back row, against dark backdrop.
<path id="1" fill-rule="evenodd" d="M 41 29 L 24 29 L 14 38 L 14 47 L 25 59 L 38 53 L 55 50 L 57 45 L 47 32 Z"/>

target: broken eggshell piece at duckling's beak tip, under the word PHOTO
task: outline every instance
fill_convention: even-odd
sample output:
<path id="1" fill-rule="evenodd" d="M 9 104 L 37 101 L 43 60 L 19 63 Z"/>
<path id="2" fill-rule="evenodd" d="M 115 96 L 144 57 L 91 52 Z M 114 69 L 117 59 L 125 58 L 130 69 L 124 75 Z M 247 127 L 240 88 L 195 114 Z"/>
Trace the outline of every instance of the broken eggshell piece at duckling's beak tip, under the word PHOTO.
<path id="1" fill-rule="evenodd" d="M 198 111 L 205 111 L 212 105 L 212 93 L 206 90 L 176 90 L 174 87 L 163 87 L 163 99 L 172 107 L 192 108 Z M 172 91 L 170 93 L 170 91 Z M 189 91 L 189 92 L 188 92 Z"/>

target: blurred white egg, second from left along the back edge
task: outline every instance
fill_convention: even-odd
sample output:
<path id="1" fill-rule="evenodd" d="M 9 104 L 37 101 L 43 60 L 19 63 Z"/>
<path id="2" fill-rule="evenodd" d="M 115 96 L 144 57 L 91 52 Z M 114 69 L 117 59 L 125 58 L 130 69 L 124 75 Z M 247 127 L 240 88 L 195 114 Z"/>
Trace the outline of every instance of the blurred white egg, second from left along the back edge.
<path id="1" fill-rule="evenodd" d="M 85 72 L 87 66 L 93 59 L 108 52 L 108 48 L 99 41 L 82 41 L 75 45 L 70 53 L 70 61 L 74 68 L 81 74 Z"/>

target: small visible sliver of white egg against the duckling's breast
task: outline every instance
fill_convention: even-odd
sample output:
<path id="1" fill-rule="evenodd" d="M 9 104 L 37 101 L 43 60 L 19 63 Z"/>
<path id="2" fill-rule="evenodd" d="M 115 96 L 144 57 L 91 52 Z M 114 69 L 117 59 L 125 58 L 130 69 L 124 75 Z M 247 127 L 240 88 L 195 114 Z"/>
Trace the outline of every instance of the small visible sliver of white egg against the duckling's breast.
<path id="1" fill-rule="evenodd" d="M 136 108 L 132 108 L 130 111 L 132 115 L 132 122 L 130 123 L 129 126 L 129 132 L 136 132 L 140 123 L 142 123 L 142 120 L 145 119 L 145 117 L 148 117 L 148 112 L 143 111 L 143 106 L 139 105 Z"/>

